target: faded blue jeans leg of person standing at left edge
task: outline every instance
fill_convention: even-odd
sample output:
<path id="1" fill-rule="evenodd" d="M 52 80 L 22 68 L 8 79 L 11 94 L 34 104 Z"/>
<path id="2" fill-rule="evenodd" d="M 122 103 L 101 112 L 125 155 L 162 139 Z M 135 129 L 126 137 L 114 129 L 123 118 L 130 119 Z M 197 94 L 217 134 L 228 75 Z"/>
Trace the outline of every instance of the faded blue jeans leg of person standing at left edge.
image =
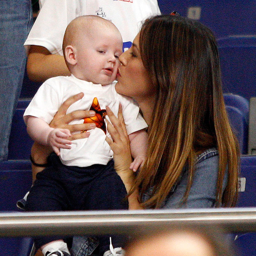
<path id="1" fill-rule="evenodd" d="M 24 76 L 23 44 L 32 25 L 31 0 L 1 0 L 0 24 L 0 160 L 4 160 L 8 157 L 12 116 Z"/>

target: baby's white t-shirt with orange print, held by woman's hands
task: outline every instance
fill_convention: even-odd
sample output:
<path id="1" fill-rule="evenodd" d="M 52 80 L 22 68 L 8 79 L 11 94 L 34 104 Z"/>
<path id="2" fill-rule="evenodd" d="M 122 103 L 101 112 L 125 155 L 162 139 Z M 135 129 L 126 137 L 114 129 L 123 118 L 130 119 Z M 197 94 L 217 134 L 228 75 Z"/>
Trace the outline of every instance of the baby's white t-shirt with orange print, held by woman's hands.
<path id="1" fill-rule="evenodd" d="M 70 96 L 84 92 L 84 97 L 72 104 L 67 113 L 74 110 L 89 110 L 96 97 L 101 110 L 109 106 L 117 116 L 119 102 L 122 104 L 124 122 L 128 134 L 147 128 L 147 123 L 139 113 L 138 105 L 128 97 L 121 96 L 115 91 L 115 82 L 110 85 L 96 85 L 92 82 L 71 76 L 59 76 L 46 80 L 36 92 L 24 112 L 27 115 L 43 119 L 48 124 L 52 121 L 60 105 Z M 108 119 L 108 116 L 106 116 Z M 109 119 L 108 119 L 109 120 Z M 83 123 L 75 120 L 70 124 Z M 105 122 L 107 126 L 107 123 Z M 110 136 L 108 131 L 107 136 Z M 93 164 L 106 165 L 113 157 L 109 144 L 105 141 L 106 134 L 98 127 L 90 131 L 88 138 L 74 140 L 71 149 L 60 149 L 60 160 L 64 165 L 85 167 Z"/>

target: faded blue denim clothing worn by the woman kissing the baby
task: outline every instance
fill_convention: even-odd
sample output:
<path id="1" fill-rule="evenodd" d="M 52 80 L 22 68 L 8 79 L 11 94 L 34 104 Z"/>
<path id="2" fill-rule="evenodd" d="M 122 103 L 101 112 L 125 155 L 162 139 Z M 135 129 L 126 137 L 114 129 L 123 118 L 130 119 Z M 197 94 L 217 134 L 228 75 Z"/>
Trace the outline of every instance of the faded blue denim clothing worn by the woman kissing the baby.
<path id="1" fill-rule="evenodd" d="M 219 154 L 216 148 L 207 149 L 196 158 L 193 183 L 185 204 L 180 202 L 185 194 L 188 171 L 186 167 L 174 189 L 166 199 L 163 209 L 174 208 L 210 208 L 215 206 L 216 183 L 218 178 Z M 227 172 L 223 181 L 223 191 L 227 184 Z M 152 188 L 143 196 L 150 197 Z M 74 256 L 88 256 L 97 247 L 98 242 L 91 237 L 74 237 L 72 253 Z"/>

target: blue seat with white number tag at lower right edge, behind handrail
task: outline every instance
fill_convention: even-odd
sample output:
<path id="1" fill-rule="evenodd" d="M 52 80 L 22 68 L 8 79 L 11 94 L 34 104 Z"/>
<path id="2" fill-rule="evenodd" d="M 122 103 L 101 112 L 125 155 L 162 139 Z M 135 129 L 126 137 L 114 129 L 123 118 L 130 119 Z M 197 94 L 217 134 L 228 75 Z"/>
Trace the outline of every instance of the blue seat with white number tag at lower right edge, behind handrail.
<path id="1" fill-rule="evenodd" d="M 256 156 L 241 157 L 241 181 L 237 207 L 256 207 Z M 237 234 L 238 255 L 256 255 L 256 233 Z"/>

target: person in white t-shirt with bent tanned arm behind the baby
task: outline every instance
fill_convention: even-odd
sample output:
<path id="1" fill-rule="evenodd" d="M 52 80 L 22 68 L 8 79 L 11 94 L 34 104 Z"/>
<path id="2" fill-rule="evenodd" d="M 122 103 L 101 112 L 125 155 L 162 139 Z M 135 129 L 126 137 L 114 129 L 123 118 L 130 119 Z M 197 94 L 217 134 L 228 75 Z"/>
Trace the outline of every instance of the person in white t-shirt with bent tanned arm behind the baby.
<path id="1" fill-rule="evenodd" d="M 62 41 L 69 22 L 81 15 L 97 15 L 110 20 L 121 32 L 123 47 L 129 48 L 149 16 L 160 14 L 157 0 L 45 0 L 25 42 L 30 45 L 27 73 L 34 81 L 70 75 Z"/>

